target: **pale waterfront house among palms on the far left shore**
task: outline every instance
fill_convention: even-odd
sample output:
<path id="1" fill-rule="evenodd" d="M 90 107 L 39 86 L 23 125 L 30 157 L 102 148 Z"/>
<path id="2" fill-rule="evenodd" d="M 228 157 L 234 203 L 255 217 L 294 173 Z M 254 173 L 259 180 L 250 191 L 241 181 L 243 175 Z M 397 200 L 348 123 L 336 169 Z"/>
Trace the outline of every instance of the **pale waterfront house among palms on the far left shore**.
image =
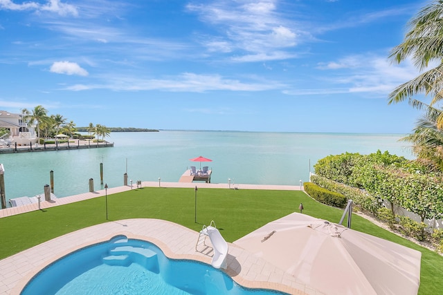
<path id="1" fill-rule="evenodd" d="M 0 129 L 9 130 L 9 134 L 0 137 L 0 146 L 15 143 L 26 146 L 37 142 L 35 127 L 26 124 L 24 115 L 0 111 Z"/>

